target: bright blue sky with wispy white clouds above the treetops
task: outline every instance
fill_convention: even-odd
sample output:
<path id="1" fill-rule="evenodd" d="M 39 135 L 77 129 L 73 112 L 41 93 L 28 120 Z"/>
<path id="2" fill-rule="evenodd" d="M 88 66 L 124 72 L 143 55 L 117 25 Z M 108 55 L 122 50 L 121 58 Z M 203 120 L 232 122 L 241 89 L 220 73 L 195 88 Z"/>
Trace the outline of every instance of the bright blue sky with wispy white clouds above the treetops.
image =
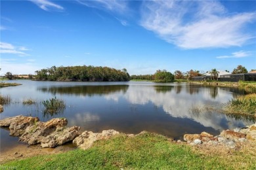
<path id="1" fill-rule="evenodd" d="M 256 69 L 256 1 L 0 1 L 1 75 Z"/>

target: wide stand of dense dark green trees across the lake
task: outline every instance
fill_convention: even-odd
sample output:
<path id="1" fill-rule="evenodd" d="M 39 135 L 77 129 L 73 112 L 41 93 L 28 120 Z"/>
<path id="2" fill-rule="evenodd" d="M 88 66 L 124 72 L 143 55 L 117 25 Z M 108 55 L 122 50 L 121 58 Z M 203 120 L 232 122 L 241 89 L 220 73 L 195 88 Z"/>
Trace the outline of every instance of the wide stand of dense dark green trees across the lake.
<path id="1" fill-rule="evenodd" d="M 71 66 L 56 67 L 35 71 L 35 80 L 49 81 L 129 81 L 126 69 L 117 70 L 110 67 Z"/>

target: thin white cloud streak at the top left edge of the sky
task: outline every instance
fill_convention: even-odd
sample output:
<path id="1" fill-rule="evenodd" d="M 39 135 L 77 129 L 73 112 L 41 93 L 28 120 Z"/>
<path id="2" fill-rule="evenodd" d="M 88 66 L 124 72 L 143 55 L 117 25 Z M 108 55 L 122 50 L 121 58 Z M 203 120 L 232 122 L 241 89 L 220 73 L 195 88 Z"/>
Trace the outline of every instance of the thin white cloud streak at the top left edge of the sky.
<path id="1" fill-rule="evenodd" d="M 35 5 L 37 5 L 40 9 L 49 11 L 49 10 L 64 10 L 64 7 L 57 5 L 56 3 L 53 3 L 48 0 L 30 0 Z"/>

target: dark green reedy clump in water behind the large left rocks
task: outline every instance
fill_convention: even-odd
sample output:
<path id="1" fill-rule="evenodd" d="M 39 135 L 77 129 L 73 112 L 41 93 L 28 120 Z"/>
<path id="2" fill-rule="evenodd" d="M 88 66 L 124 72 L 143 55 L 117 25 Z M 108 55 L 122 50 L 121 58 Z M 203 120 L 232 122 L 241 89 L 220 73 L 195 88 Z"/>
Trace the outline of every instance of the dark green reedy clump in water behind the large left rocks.
<path id="1" fill-rule="evenodd" d="M 44 113 L 54 114 L 63 112 L 66 108 L 66 105 L 62 99 L 56 99 L 56 97 L 43 101 L 43 105 L 45 106 Z"/>

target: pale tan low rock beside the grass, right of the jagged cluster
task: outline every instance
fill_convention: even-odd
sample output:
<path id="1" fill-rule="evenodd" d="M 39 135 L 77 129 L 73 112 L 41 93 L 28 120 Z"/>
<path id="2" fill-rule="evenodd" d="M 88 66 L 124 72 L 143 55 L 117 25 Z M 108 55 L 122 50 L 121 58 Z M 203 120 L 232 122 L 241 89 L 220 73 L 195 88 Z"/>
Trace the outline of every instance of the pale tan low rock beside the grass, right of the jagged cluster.
<path id="1" fill-rule="evenodd" d="M 109 139 L 113 135 L 119 134 L 118 131 L 113 129 L 104 130 L 102 133 L 93 133 L 92 131 L 84 131 L 81 135 L 76 137 L 73 141 L 79 148 L 86 150 L 93 146 L 93 143 L 102 139 Z"/>

